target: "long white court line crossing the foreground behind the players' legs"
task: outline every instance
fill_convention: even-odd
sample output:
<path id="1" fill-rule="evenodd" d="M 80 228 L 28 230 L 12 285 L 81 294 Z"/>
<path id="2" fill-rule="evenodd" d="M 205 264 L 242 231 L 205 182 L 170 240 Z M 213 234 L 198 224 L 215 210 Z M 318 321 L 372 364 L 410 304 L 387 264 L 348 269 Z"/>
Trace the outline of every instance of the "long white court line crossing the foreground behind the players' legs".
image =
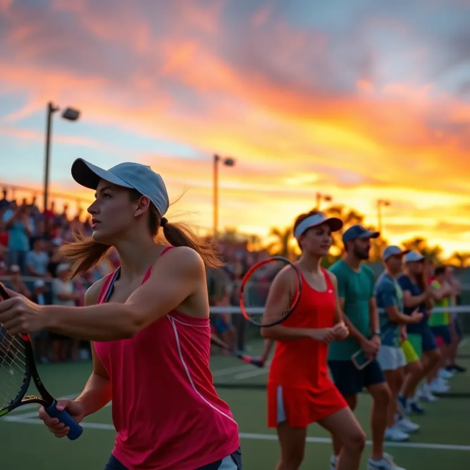
<path id="1" fill-rule="evenodd" d="M 11 420 L 13 423 L 24 423 L 24 424 L 43 424 L 42 421 L 38 419 L 24 419 L 21 417 L 14 416 Z M 115 431 L 112 424 L 104 423 L 80 423 L 84 428 L 89 429 L 104 429 L 107 431 Z M 256 439 L 256 440 L 277 440 L 275 434 L 253 434 L 251 432 L 240 432 L 239 436 L 241 439 Z M 331 439 L 329 438 L 313 438 L 307 437 L 307 442 L 316 443 L 316 444 L 331 444 Z M 368 446 L 372 445 L 372 441 L 367 441 Z M 414 449 L 437 449 L 437 450 L 460 450 L 470 452 L 470 446 L 456 446 L 453 444 L 429 444 L 424 442 L 385 442 L 386 447 L 409 447 Z"/>

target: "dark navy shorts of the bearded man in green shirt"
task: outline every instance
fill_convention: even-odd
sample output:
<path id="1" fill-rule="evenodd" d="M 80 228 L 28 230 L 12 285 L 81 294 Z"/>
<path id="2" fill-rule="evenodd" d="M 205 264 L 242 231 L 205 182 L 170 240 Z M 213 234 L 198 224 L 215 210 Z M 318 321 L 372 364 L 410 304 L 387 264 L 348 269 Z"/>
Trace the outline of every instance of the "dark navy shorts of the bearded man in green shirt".
<path id="1" fill-rule="evenodd" d="M 352 360 L 329 360 L 328 367 L 336 388 L 344 397 L 357 395 L 364 387 L 385 382 L 384 373 L 376 360 L 362 370 L 358 370 Z"/>

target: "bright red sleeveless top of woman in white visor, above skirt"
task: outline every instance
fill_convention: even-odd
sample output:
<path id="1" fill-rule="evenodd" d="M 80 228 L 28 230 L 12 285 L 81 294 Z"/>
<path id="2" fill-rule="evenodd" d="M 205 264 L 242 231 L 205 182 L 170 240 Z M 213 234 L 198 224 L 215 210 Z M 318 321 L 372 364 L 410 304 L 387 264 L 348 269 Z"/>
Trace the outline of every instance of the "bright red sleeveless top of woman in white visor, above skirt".
<path id="1" fill-rule="evenodd" d="M 335 317 L 335 293 L 328 273 L 322 269 L 326 290 L 314 290 L 302 275 L 302 294 L 297 308 L 282 322 L 290 328 L 331 328 Z M 328 345 L 310 338 L 276 341 L 268 382 L 309 389 L 315 393 L 334 385 L 328 377 Z"/>

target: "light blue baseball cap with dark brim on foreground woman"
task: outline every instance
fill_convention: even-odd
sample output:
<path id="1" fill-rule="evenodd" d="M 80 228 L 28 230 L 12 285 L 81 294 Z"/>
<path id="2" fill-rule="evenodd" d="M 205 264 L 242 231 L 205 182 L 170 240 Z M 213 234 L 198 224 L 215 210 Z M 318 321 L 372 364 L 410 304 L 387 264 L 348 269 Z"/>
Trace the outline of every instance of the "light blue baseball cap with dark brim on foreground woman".
<path id="1" fill-rule="evenodd" d="M 77 158 L 72 164 L 72 178 L 90 189 L 96 189 L 100 180 L 135 189 L 150 199 L 162 217 L 170 206 L 162 177 L 147 165 L 125 162 L 103 170 L 83 158 Z"/>

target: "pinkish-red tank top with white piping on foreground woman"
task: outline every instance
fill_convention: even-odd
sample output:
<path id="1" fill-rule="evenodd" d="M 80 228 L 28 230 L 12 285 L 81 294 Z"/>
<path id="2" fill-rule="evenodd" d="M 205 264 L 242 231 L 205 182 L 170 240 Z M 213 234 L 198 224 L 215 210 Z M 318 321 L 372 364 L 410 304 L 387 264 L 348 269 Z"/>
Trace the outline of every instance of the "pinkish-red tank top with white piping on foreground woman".
<path id="1" fill-rule="evenodd" d="M 110 298 L 119 269 L 98 304 Z M 127 469 L 194 470 L 240 446 L 238 426 L 212 383 L 210 341 L 208 318 L 172 311 L 133 338 L 94 343 L 111 380 L 113 455 Z"/>

